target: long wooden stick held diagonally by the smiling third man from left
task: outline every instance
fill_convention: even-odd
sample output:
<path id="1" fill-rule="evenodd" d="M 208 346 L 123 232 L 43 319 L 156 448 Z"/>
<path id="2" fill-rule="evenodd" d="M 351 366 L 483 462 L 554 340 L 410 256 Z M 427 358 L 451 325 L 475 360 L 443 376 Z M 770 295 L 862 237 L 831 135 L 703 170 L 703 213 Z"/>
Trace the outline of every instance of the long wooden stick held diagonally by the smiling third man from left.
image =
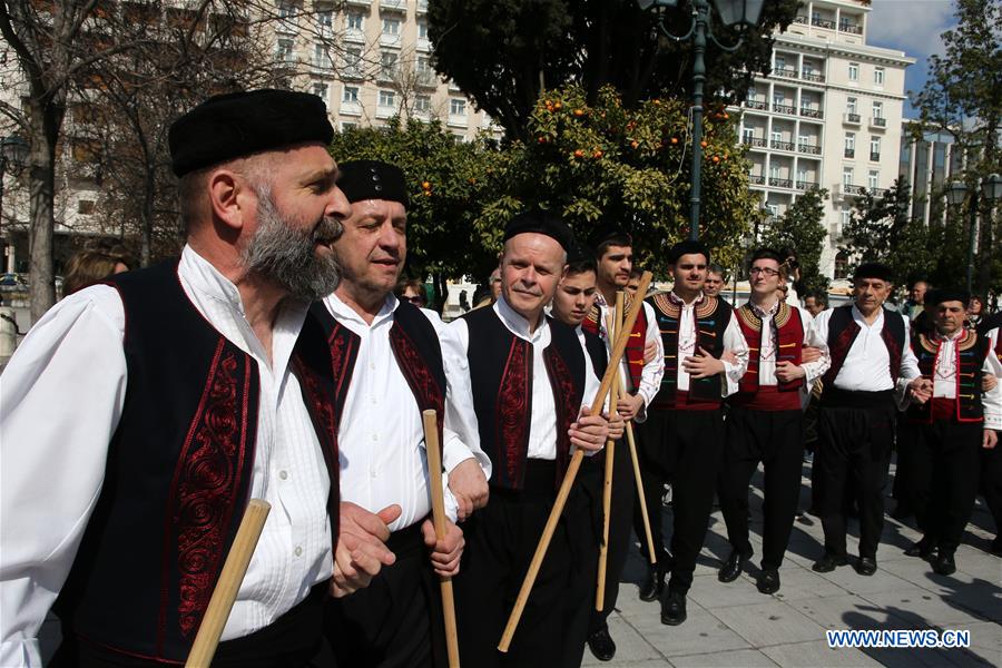
<path id="1" fill-rule="evenodd" d="M 640 277 L 640 286 L 637 288 L 638 295 L 647 294 L 651 277 L 650 272 L 644 272 L 644 275 Z M 633 299 L 630 305 L 630 311 L 627 314 L 626 323 L 623 324 L 622 330 L 620 330 L 619 336 L 616 337 L 616 345 L 612 346 L 612 354 L 609 355 L 609 367 L 606 369 L 606 374 L 602 376 L 602 384 L 599 386 L 598 394 L 595 395 L 595 401 L 591 402 L 591 415 L 601 414 L 602 406 L 606 403 L 606 396 L 612 387 L 612 379 L 619 375 L 619 362 L 622 360 L 622 353 L 626 351 L 626 344 L 630 338 L 629 333 L 637 322 L 637 314 L 640 313 L 641 302 L 642 299 L 640 298 Z M 511 610 L 511 615 L 508 617 L 508 623 L 504 627 L 501 641 L 498 644 L 498 649 L 502 652 L 507 652 L 509 646 L 511 646 L 511 638 L 514 636 L 514 631 L 519 626 L 519 619 L 521 619 L 522 612 L 525 609 L 529 593 L 532 591 L 532 586 L 536 583 L 537 576 L 539 576 L 539 568 L 542 566 L 543 557 L 546 557 L 547 549 L 550 547 L 550 541 L 553 539 L 553 532 L 557 530 L 557 522 L 560 521 L 560 515 L 563 513 L 563 507 L 567 504 L 567 498 L 570 495 L 571 485 L 574 484 L 574 478 L 578 475 L 578 470 L 581 468 L 581 460 L 583 458 L 584 451 L 580 448 L 576 450 L 567 466 L 567 473 L 563 474 L 563 482 L 560 483 L 560 490 L 557 492 L 557 499 L 553 501 L 550 517 L 547 519 L 542 536 L 539 539 L 539 543 L 536 546 L 536 552 L 532 554 L 529 570 L 525 572 L 525 578 L 522 580 L 522 588 L 519 590 L 519 596 L 515 599 L 515 605 Z"/>

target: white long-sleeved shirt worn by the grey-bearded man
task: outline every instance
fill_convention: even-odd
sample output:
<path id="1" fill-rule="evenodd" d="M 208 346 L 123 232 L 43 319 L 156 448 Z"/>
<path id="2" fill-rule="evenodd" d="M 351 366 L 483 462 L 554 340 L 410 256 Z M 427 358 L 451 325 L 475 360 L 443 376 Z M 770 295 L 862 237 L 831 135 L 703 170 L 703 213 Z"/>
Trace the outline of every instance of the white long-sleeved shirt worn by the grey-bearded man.
<path id="1" fill-rule="evenodd" d="M 228 640 L 268 626 L 333 572 L 331 482 L 288 364 L 307 304 L 282 306 L 269 363 L 233 283 L 187 246 L 178 274 L 195 308 L 257 362 L 261 375 L 250 495 L 272 512 L 226 622 Z M 49 310 L 3 372 L 0 666 L 41 665 L 38 629 L 73 563 L 121 418 L 124 333 L 118 291 L 89 287 Z"/>

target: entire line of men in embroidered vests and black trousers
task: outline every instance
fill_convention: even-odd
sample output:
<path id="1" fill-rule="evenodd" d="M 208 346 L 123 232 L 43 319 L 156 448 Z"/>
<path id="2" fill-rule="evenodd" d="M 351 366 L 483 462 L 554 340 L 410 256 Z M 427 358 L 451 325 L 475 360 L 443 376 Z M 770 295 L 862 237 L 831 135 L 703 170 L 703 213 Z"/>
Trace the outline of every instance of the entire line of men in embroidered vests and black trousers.
<path id="1" fill-rule="evenodd" d="M 794 264 L 762 248 L 748 303 L 733 307 L 710 250 L 684 242 L 668 257 L 671 289 L 626 299 L 636 322 L 611 374 L 622 392 L 592 412 L 620 340 L 617 293 L 642 283 L 629 234 L 576 239 L 552 214 L 514 216 L 487 304 L 445 324 L 421 284 L 399 283 L 403 174 L 335 163 L 332 132 L 305 94 L 218 96 L 183 116 L 170 129 L 180 258 L 68 296 L 12 357 L 0 386 L 0 665 L 41 665 L 50 609 L 62 627 L 53 666 L 183 662 L 250 498 L 273 510 L 213 665 L 445 665 L 442 577 L 466 666 L 578 666 L 586 646 L 610 659 L 606 619 L 632 537 L 651 563 L 640 597 L 660 600 L 664 623 L 685 622 L 715 493 L 733 548 L 719 580 L 753 557 L 759 464 L 757 587 L 780 589 L 809 402 L 825 534 L 815 570 L 848 562 L 851 505 L 855 568 L 878 568 L 895 440 L 908 453 L 900 494 L 924 534 L 910 553 L 953 572 L 979 472 L 1002 519 L 999 330 L 965 326 L 967 295 L 926 292 L 924 323 L 910 321 L 884 307 L 888 269 L 864 264 L 853 303 L 814 314 L 789 291 Z M 441 471 L 429 466 L 428 410 Z M 430 519 L 439 478 L 444 532 Z"/>

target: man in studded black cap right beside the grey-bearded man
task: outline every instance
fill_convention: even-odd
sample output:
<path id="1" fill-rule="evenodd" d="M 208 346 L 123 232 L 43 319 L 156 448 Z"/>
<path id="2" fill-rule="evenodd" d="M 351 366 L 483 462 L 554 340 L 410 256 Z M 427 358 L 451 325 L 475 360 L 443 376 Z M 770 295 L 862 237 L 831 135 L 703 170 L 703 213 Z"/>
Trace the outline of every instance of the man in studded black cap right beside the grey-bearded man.
<path id="1" fill-rule="evenodd" d="M 404 176 L 393 165 L 357 160 L 341 165 L 337 185 L 352 203 L 344 232 L 332 244 L 343 276 L 314 308 L 338 362 L 341 494 L 370 511 L 395 504 L 401 513 L 387 527 L 395 563 L 364 591 L 328 603 L 327 636 L 342 666 L 444 665 L 432 570 L 459 570 L 463 538 L 453 521 L 487 502 L 490 461 L 440 423 L 452 521 L 446 538 L 436 540 L 430 477 L 441 472 L 428 470 L 421 414 L 444 415 L 446 384 L 431 318 L 393 294 L 407 252 Z"/>

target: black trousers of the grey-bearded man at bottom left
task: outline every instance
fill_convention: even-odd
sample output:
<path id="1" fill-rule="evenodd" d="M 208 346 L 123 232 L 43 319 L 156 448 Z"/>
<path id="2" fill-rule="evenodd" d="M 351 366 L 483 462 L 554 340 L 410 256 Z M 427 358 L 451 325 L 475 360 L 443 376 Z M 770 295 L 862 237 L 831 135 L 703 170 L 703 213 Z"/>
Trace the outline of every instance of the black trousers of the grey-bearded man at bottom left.
<path id="1" fill-rule="evenodd" d="M 272 625 L 234 640 L 220 642 L 213 668 L 295 668 L 314 666 L 323 639 L 323 606 L 327 582 L 316 584 L 298 606 Z M 191 639 L 194 641 L 194 638 Z M 62 644 L 50 668 L 154 668 L 161 661 L 120 654 L 77 637 L 63 622 Z"/>

